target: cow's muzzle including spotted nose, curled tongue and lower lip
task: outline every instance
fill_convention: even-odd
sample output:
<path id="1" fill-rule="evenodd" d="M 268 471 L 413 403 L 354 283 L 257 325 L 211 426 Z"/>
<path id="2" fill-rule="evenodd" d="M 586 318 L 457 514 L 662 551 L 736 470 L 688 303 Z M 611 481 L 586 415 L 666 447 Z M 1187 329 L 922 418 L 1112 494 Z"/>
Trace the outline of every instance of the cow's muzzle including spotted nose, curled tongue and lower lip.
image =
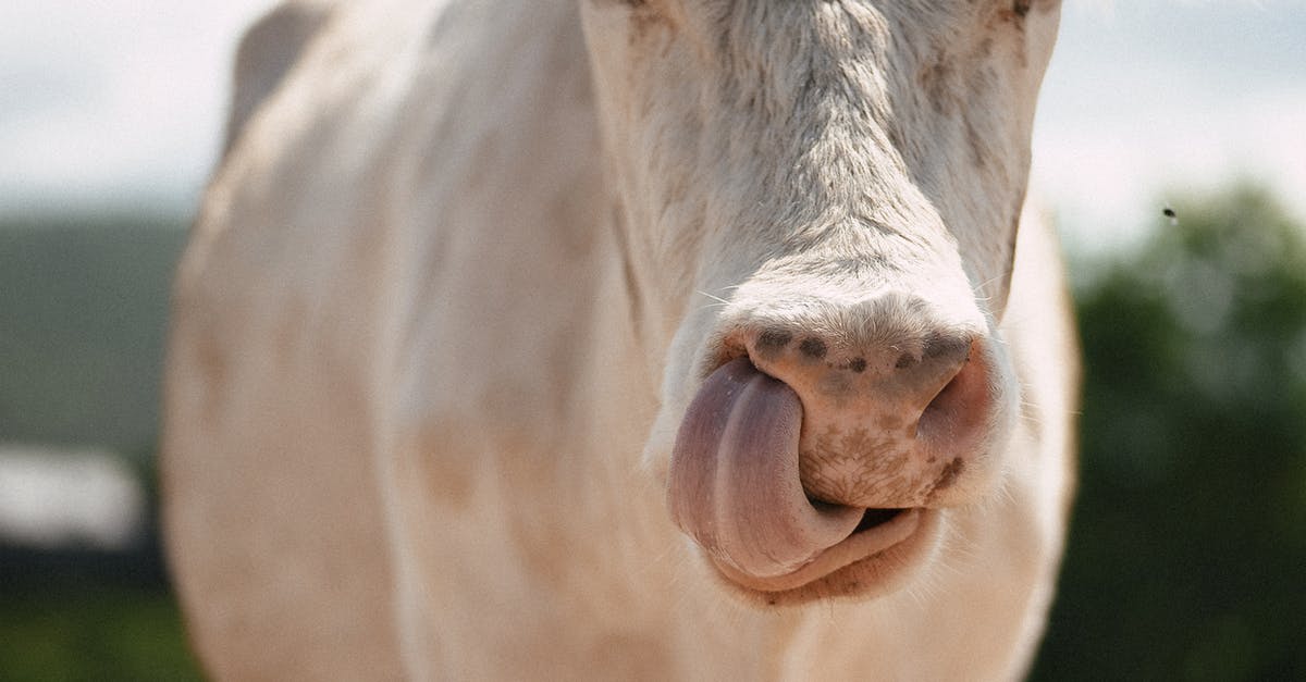
<path id="1" fill-rule="evenodd" d="M 674 521 L 767 601 L 889 589 L 972 502 L 1002 430 L 991 341 L 973 331 L 812 333 L 751 324 L 686 410 Z"/>

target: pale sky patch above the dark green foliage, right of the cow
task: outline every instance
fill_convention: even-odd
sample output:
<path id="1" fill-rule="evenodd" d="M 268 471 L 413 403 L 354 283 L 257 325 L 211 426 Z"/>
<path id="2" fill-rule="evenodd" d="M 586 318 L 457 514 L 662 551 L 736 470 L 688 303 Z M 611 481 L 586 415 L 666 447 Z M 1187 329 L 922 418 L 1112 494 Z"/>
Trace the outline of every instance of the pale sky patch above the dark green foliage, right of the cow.
<path id="1" fill-rule="evenodd" d="M 1166 203 L 1235 179 L 1306 223 L 1306 0 L 1063 7 L 1030 189 L 1067 239 L 1127 246 Z"/>

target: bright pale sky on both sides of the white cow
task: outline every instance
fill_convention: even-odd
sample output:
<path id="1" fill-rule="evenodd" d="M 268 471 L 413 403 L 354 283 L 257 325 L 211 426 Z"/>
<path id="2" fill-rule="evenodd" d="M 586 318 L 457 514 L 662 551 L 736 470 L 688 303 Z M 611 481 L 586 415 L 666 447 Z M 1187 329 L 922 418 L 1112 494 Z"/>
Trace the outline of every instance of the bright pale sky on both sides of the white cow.
<path id="1" fill-rule="evenodd" d="M 0 3 L 0 216 L 188 214 L 270 4 Z M 1030 184 L 1067 239 L 1128 244 L 1234 178 L 1306 221 L 1306 0 L 1066 0 Z"/>

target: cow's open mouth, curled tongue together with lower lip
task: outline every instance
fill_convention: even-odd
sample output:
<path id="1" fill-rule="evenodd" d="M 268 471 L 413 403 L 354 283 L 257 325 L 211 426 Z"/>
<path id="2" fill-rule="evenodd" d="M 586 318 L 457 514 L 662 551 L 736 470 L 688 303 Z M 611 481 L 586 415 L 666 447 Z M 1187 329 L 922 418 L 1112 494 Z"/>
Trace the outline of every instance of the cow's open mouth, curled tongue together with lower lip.
<path id="1" fill-rule="evenodd" d="M 812 500 L 798 473 L 802 405 L 746 358 L 686 410 L 667 502 L 727 583 L 765 604 L 889 591 L 934 545 L 939 511 Z"/>

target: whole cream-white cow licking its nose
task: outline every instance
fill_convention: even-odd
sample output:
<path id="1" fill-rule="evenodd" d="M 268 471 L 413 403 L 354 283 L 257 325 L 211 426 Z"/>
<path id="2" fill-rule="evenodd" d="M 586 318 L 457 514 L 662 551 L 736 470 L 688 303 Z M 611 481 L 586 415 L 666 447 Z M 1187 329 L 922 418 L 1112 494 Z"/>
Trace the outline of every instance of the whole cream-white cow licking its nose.
<path id="1" fill-rule="evenodd" d="M 1011 679 L 1074 487 L 1055 0 L 282 4 L 174 294 L 219 679 Z M 264 55 L 264 57 L 260 57 Z"/>

